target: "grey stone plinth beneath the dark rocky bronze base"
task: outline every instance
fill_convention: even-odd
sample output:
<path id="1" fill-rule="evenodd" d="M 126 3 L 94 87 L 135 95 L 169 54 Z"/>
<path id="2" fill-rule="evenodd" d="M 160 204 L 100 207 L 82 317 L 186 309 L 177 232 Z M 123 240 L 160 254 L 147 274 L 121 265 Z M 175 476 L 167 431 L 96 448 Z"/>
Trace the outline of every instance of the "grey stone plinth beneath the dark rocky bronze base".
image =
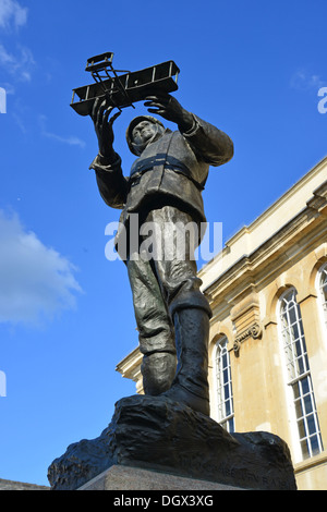
<path id="1" fill-rule="evenodd" d="M 243 490 L 214 481 L 184 478 L 138 467 L 111 466 L 77 490 Z"/>

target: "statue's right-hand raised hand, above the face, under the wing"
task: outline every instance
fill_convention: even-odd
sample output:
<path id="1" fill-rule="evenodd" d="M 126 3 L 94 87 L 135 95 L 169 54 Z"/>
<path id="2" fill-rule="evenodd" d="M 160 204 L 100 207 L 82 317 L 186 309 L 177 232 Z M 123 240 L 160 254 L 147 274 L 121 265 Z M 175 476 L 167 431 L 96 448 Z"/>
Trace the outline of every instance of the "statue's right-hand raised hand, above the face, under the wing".
<path id="1" fill-rule="evenodd" d="M 179 125 L 182 132 L 187 132 L 193 126 L 193 115 L 187 112 L 179 101 L 169 94 L 162 94 L 158 96 L 148 96 L 145 98 L 147 101 L 144 103 L 148 108 L 148 112 L 158 113 L 167 121 L 172 121 Z"/>

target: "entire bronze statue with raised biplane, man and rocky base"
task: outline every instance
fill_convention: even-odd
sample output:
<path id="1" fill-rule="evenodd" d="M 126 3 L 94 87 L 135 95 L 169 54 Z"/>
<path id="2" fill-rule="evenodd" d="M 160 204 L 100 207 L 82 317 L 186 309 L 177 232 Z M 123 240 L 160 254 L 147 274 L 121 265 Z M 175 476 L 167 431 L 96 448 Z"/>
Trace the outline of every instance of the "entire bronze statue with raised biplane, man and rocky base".
<path id="1" fill-rule="evenodd" d="M 209 166 L 232 158 L 232 141 L 170 96 L 179 71 L 172 61 L 118 76 L 112 56 L 87 60 L 95 84 L 73 89 L 80 100 L 71 106 L 94 121 L 99 153 L 90 168 L 105 202 L 122 210 L 116 246 L 133 292 L 145 395 L 119 400 L 100 436 L 70 444 L 49 467 L 51 489 L 96 489 L 97 475 L 99 488 L 113 489 L 109 473 L 101 473 L 123 465 L 239 488 L 295 490 L 284 441 L 268 432 L 229 434 L 209 417 L 211 312 L 194 253 L 206 223 L 202 191 Z M 113 123 L 122 108 L 140 100 L 178 130 L 165 129 L 152 115 L 135 118 L 126 141 L 137 159 L 124 176 Z M 112 114 L 114 108 L 120 112 Z"/>

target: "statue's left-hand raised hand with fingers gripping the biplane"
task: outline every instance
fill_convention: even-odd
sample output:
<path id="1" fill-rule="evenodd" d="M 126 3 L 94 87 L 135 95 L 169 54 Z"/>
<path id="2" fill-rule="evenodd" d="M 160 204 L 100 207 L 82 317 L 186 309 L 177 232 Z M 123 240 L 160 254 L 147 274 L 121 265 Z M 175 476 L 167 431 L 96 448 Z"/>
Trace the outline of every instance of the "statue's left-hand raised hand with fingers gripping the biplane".
<path id="1" fill-rule="evenodd" d="M 112 125 L 114 120 L 121 114 L 121 111 L 119 111 L 112 115 L 112 118 L 109 118 L 113 109 L 114 107 L 108 107 L 107 99 L 101 101 L 100 98 L 97 98 L 90 114 L 98 137 L 99 153 L 102 157 L 108 159 L 112 158 L 114 155 L 112 147 L 114 139 Z"/>

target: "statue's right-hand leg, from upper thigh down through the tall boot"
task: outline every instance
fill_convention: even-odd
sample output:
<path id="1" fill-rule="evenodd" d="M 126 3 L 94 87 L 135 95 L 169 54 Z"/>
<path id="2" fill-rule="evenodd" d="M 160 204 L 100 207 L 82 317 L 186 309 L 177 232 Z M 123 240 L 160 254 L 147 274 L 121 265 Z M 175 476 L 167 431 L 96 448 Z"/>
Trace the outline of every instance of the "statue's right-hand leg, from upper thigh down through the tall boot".
<path id="1" fill-rule="evenodd" d="M 164 222 L 165 219 L 182 224 L 190 224 L 192 218 L 177 208 L 167 206 L 152 212 L 153 221 Z M 172 228 L 171 228 L 172 229 Z M 173 231 L 173 229 L 172 229 Z M 173 237 L 178 243 L 178 234 L 183 230 L 170 233 L 168 243 Z M 156 273 L 161 293 L 169 307 L 174 324 L 178 368 L 171 388 L 165 397 L 182 402 L 195 411 L 209 414 L 208 389 L 208 341 L 209 318 L 211 316 L 207 298 L 201 292 L 201 279 L 197 277 L 194 260 L 194 244 L 191 239 L 185 242 L 183 258 L 162 258 L 156 260 Z M 161 240 L 161 245 L 165 240 Z M 173 253 L 170 253 L 173 256 Z"/>

